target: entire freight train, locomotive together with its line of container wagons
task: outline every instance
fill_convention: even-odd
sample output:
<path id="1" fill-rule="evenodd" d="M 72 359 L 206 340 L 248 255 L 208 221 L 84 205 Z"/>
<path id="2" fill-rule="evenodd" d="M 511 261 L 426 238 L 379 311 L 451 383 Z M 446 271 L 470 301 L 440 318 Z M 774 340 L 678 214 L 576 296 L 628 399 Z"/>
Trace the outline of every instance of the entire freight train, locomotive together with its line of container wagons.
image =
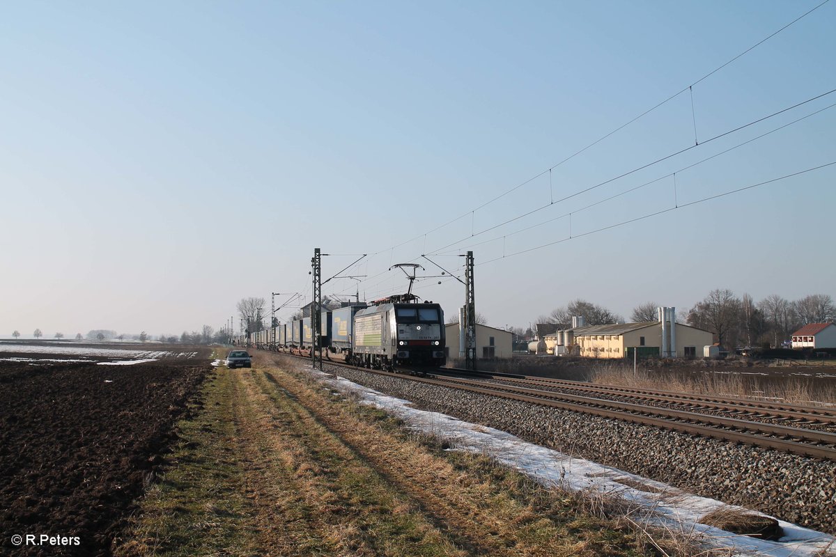
<path id="1" fill-rule="evenodd" d="M 361 367 L 439 367 L 446 362 L 441 305 L 390 296 L 370 304 L 351 303 L 321 312 L 319 339 L 324 357 Z M 263 350 L 310 354 L 314 347 L 310 317 L 273 329 L 236 337 L 236 344 Z"/>

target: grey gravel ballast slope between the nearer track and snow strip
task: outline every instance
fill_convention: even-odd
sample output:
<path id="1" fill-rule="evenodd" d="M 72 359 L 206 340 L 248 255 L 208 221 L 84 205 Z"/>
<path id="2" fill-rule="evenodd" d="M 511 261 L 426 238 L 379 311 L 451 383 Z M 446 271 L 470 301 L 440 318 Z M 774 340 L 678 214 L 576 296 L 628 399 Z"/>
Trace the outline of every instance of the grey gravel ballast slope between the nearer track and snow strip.
<path id="1" fill-rule="evenodd" d="M 528 442 L 693 494 L 836 534 L 836 463 L 344 367 L 340 377 L 416 408 L 502 429 Z"/>

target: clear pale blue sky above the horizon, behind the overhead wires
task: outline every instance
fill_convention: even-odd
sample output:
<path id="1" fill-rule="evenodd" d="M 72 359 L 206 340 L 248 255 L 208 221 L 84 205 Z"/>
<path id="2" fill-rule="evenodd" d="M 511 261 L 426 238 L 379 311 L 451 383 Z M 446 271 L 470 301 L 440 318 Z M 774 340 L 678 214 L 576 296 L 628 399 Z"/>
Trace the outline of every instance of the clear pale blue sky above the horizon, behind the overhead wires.
<path id="1" fill-rule="evenodd" d="M 681 170 L 829 94 L 550 205 L 836 89 L 831 2 L 554 167 L 818 3 L 5 3 L 0 335 L 217 328 L 242 297 L 309 301 L 314 247 L 324 278 L 373 254 L 346 271 L 370 299 L 405 288 L 393 263 L 472 249 L 498 327 L 577 297 L 834 295 L 836 165 L 512 255 L 568 212 L 578 236 L 836 161 L 834 107 Z M 455 313 L 437 281 L 416 292 Z"/>

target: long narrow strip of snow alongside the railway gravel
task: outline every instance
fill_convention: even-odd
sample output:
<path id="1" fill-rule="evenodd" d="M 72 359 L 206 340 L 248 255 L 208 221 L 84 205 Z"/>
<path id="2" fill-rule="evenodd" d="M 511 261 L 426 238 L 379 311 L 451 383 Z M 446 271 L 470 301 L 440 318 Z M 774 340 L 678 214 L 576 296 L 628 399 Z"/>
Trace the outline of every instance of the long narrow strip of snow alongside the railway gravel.
<path id="1" fill-rule="evenodd" d="M 618 468 L 573 458 L 550 448 L 527 443 L 498 429 L 463 422 L 442 413 L 418 410 L 412 408 L 409 401 L 387 396 L 343 377 L 334 378 L 328 373 L 308 369 L 329 387 L 343 394 L 353 392 L 358 395 L 360 403 L 394 414 L 407 427 L 449 440 L 453 450 L 491 454 L 497 461 L 547 486 L 559 485 L 574 490 L 594 489 L 603 494 L 618 495 L 652 509 L 657 518 L 651 519 L 651 524 L 655 521 L 684 532 L 701 533 L 709 544 L 733 549 L 739 555 L 813 557 L 836 542 L 833 536 L 782 520 L 778 520 L 778 524 L 785 535 L 777 542 L 731 534 L 699 524 L 701 517 L 716 509 L 742 508 L 688 494 L 668 484 Z M 645 486 L 648 490 L 636 489 L 631 485 Z"/>

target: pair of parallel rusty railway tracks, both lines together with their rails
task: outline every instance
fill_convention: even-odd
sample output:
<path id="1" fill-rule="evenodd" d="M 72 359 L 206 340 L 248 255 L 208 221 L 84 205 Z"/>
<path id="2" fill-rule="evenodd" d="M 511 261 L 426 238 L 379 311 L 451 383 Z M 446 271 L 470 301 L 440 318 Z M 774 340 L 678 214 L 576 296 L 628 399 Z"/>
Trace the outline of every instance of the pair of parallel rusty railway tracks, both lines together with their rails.
<path id="1" fill-rule="evenodd" d="M 530 378 L 477 372 L 476 376 L 481 377 L 480 380 L 460 377 L 461 370 L 452 369 L 434 370 L 426 376 L 412 376 L 345 366 L 345 364 L 333 361 L 329 362 L 329 365 L 350 367 L 364 372 L 401 377 L 411 381 L 452 387 L 492 397 L 572 410 L 695 436 L 724 439 L 731 443 L 745 443 L 810 458 L 836 461 L 836 433 L 797 427 L 805 423 L 836 423 L 836 413 L 821 408 L 773 405 L 731 398 L 696 397 L 624 387 L 598 387 L 579 384 L 578 382 L 543 380 L 539 377 Z M 504 382 L 486 381 L 486 379 L 497 378 Z M 583 393 L 558 392 L 554 388 L 543 388 L 554 387 L 555 383 L 568 383 L 572 388 Z M 618 393 L 622 397 L 632 398 L 630 400 L 604 398 L 600 397 L 602 392 Z M 595 396 L 596 394 L 599 396 Z M 665 403 L 679 404 L 682 408 L 668 408 L 648 404 L 650 401 L 660 402 L 660 400 Z M 739 412 L 741 416 L 747 418 L 761 417 L 770 420 L 774 418 L 793 423 L 793 425 L 717 415 L 716 413 L 720 411 L 722 413 Z"/>

